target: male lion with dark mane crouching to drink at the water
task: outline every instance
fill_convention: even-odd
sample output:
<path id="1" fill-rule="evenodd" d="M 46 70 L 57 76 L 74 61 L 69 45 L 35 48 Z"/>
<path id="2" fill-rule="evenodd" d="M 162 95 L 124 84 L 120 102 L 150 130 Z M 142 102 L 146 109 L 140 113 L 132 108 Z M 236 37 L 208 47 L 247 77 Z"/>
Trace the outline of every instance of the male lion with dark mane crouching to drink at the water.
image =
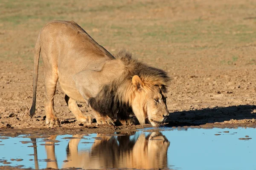
<path id="1" fill-rule="evenodd" d="M 169 116 L 166 72 L 131 59 L 126 51 L 113 57 L 73 21 L 52 21 L 38 35 L 30 116 L 35 114 L 40 54 L 44 62 L 44 109 L 49 126 L 61 124 L 53 108 L 58 80 L 67 105 L 79 122 L 90 123 L 96 118 L 97 124 L 114 125 L 114 119 L 124 123 L 134 113 L 141 125 L 148 118 L 153 126 L 158 126 Z M 93 115 L 83 115 L 77 101 L 87 103 Z"/>

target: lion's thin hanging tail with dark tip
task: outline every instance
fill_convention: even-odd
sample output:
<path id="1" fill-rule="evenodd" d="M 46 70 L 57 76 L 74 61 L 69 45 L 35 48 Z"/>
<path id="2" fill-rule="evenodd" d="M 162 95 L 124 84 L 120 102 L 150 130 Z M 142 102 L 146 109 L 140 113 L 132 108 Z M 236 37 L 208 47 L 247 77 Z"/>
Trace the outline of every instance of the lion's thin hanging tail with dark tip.
<path id="1" fill-rule="evenodd" d="M 40 45 L 40 34 L 38 35 L 38 38 L 35 43 L 35 54 L 34 54 L 34 75 L 33 75 L 33 102 L 32 106 L 30 108 L 30 117 L 34 116 L 35 114 L 35 101 L 36 101 L 36 87 L 37 87 L 37 80 L 38 80 L 38 64 L 39 64 L 39 56 L 41 51 L 41 45 Z"/>

